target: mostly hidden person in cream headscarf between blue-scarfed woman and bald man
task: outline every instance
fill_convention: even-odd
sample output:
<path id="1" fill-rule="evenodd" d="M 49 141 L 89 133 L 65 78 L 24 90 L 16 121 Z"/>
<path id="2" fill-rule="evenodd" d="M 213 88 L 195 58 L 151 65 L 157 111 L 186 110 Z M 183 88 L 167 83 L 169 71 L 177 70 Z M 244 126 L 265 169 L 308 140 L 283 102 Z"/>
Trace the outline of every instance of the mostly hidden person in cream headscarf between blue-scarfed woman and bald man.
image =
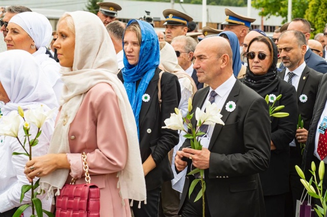
<path id="1" fill-rule="evenodd" d="M 193 98 L 194 93 L 197 91 L 196 84 L 192 79 L 192 77 L 186 74 L 185 71 L 182 69 L 182 67 L 178 65 L 178 59 L 173 46 L 167 43 L 166 41 L 160 41 L 159 47 L 160 47 L 159 68 L 163 71 L 169 71 L 170 73 L 173 73 L 175 76 L 177 76 L 178 82 L 180 84 L 180 92 L 181 92 L 181 98 L 178 105 L 178 109 L 181 111 L 182 116 L 185 117 L 189 112 L 188 111 L 189 98 Z M 185 130 L 188 130 L 186 126 L 184 126 L 184 128 Z M 161 200 L 162 200 L 162 211 L 164 212 L 164 215 L 168 215 L 169 213 L 172 214 L 173 212 L 175 212 L 175 214 L 178 215 L 179 198 L 180 198 L 180 193 L 183 190 L 187 168 L 185 168 L 185 170 L 183 170 L 178 174 L 176 173 L 175 155 L 186 139 L 183 136 L 185 134 L 186 133 L 183 131 L 179 132 L 179 142 L 177 146 L 175 146 L 174 149 L 169 152 L 169 160 L 171 161 L 172 171 L 174 173 L 174 179 L 162 184 Z M 174 190 L 171 190 L 172 188 Z M 171 203 L 175 203 L 175 206 L 173 206 Z M 173 207 L 175 207 L 175 210 Z M 169 211 L 169 213 L 165 213 L 166 211 Z"/>

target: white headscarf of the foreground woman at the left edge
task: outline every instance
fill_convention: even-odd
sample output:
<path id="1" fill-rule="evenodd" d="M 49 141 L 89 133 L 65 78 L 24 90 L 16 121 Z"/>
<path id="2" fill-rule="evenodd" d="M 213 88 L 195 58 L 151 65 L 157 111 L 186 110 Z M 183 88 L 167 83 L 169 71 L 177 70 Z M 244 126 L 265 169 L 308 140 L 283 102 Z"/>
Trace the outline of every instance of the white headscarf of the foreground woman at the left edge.
<path id="1" fill-rule="evenodd" d="M 46 105 L 53 109 L 58 107 L 56 95 L 46 82 L 43 70 L 28 52 L 12 50 L 0 53 L 0 82 L 10 102 L 1 111 L 4 115 L 12 110 L 35 105 Z"/>

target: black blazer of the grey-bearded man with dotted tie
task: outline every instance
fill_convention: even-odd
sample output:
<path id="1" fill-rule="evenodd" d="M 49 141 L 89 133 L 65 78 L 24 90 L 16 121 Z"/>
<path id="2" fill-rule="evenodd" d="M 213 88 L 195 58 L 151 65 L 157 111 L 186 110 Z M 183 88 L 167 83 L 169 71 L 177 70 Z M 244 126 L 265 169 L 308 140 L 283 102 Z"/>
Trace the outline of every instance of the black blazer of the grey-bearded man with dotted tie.
<path id="1" fill-rule="evenodd" d="M 286 69 L 279 73 L 279 77 L 281 77 L 282 79 L 285 78 L 285 71 Z M 318 73 L 318 71 L 315 71 L 306 65 L 305 69 L 302 71 L 302 75 L 298 82 L 296 91 L 298 114 L 301 114 L 301 118 L 303 119 L 303 128 L 305 128 L 306 130 L 309 130 L 313 115 L 313 107 L 316 102 L 318 86 L 322 76 L 322 73 Z M 300 101 L 300 95 L 302 94 L 305 94 L 308 97 L 308 100 L 305 103 L 302 103 Z M 294 139 L 296 143 L 296 150 L 299 156 L 301 156 L 302 154 L 300 144 L 297 142 L 297 139 L 295 137 Z"/>

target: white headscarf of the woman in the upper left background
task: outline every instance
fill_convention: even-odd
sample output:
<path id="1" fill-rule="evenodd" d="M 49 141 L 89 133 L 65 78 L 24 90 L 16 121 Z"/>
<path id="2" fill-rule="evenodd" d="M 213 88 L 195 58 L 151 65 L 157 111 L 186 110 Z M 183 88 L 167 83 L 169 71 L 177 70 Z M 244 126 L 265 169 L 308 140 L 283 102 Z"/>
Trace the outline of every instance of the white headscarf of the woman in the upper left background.
<path id="1" fill-rule="evenodd" d="M 33 39 L 37 51 L 33 54 L 45 54 L 46 45 L 50 42 L 52 26 L 48 18 L 36 12 L 23 12 L 13 16 L 9 23 L 20 26 Z"/>

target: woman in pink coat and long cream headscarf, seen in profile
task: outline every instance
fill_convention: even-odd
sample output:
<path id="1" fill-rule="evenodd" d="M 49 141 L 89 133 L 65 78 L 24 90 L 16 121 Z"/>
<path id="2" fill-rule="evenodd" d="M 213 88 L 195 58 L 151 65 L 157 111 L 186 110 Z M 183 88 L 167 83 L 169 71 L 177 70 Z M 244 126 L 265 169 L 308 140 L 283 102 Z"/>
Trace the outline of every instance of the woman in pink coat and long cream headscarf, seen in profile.
<path id="1" fill-rule="evenodd" d="M 85 152 L 91 183 L 100 188 L 100 216 L 130 216 L 129 202 L 123 199 L 144 201 L 146 189 L 136 124 L 116 76 L 113 44 L 99 17 L 89 12 L 65 13 L 57 27 L 61 109 L 49 154 L 27 162 L 25 173 L 42 177 L 41 188 L 58 195 L 72 177 L 85 183 Z"/>

